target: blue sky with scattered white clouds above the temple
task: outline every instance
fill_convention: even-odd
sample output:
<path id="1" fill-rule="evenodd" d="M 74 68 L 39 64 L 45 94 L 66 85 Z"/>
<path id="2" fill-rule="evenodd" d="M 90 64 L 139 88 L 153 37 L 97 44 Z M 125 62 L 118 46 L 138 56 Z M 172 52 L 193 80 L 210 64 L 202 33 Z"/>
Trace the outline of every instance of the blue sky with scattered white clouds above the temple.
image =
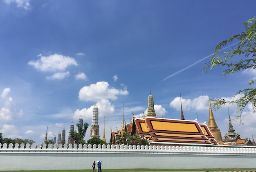
<path id="1" fill-rule="evenodd" d="M 231 100 L 255 71 L 220 77 L 202 74 L 216 45 L 244 31 L 256 16 L 254 0 L 238 1 L 0 1 L 0 132 L 42 143 L 70 124 L 89 124 L 99 108 L 100 136 L 146 111 L 151 91 L 157 116 L 204 123 L 208 98 Z M 246 107 L 236 132 L 256 137 L 256 116 Z M 213 112 L 224 138 L 228 109 Z"/>

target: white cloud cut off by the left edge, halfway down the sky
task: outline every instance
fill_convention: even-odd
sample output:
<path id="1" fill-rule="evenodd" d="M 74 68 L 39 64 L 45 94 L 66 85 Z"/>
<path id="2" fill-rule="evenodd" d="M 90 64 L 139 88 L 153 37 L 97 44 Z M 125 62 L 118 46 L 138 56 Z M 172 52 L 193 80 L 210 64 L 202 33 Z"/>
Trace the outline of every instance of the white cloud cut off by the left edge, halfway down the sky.
<path id="1" fill-rule="evenodd" d="M 8 97 L 8 94 L 11 92 L 10 88 L 5 88 L 2 91 L 1 97 L 4 101 L 3 107 L 0 109 L 0 119 L 1 121 L 10 121 L 14 117 L 22 116 L 23 112 L 16 112 L 16 105 L 13 102 L 11 97 Z"/>

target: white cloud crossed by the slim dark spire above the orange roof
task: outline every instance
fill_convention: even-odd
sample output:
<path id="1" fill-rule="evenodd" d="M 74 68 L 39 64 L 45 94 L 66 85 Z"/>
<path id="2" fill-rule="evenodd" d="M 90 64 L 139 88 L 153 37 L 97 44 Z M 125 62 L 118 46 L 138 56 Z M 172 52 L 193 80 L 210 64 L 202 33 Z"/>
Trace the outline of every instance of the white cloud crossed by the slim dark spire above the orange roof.
<path id="1" fill-rule="evenodd" d="M 182 109 L 184 111 L 189 111 L 191 108 L 196 110 L 207 110 L 209 109 L 209 97 L 208 96 L 199 96 L 194 99 L 181 99 Z M 180 97 L 176 97 L 171 101 L 170 107 L 173 107 L 176 110 L 180 110 Z"/>

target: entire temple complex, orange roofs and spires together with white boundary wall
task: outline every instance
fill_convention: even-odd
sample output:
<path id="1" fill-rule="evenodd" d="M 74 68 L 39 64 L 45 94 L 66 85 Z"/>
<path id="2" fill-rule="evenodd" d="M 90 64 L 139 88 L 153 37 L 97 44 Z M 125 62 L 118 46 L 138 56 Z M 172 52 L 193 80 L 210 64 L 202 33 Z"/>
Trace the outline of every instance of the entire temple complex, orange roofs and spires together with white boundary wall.
<path id="1" fill-rule="evenodd" d="M 73 124 L 70 130 L 74 130 Z M 150 145 L 117 145 L 119 134 L 124 132 L 147 138 Z M 100 137 L 96 105 L 92 114 L 92 137 Z M 147 115 L 133 116 L 131 123 L 125 124 L 123 113 L 122 130 L 111 132 L 112 145 L 76 145 L 72 144 L 72 138 L 66 144 L 63 139 L 58 136 L 58 143 L 48 145 L 0 144 L 0 171 L 84 170 L 92 169 L 92 162 L 97 160 L 102 161 L 103 169 L 256 169 L 254 139 L 241 139 L 229 116 L 229 130 L 222 140 L 210 102 L 207 125 L 198 123 L 197 119 L 185 120 L 182 108 L 179 120 L 157 118 L 150 94 Z M 105 127 L 102 139 L 106 139 Z"/>

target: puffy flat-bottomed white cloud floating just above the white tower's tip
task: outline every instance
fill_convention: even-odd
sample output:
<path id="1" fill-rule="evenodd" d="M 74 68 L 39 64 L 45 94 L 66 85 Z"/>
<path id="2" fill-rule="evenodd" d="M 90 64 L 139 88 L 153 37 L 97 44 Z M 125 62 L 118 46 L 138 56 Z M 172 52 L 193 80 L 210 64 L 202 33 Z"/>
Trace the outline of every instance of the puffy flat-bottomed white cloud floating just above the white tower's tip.
<path id="1" fill-rule="evenodd" d="M 79 99 L 83 101 L 101 101 L 101 99 L 116 100 L 117 95 L 127 95 L 126 89 L 109 88 L 108 82 L 100 81 L 90 86 L 85 86 L 79 91 Z"/>

